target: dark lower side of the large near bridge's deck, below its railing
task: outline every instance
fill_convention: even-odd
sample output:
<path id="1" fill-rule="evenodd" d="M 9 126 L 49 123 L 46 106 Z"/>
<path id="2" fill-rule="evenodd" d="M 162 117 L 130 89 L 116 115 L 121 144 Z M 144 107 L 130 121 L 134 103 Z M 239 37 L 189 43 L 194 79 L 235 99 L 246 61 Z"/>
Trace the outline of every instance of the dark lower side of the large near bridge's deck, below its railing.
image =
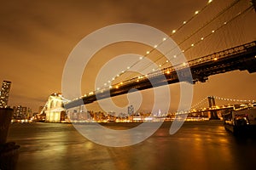
<path id="1" fill-rule="evenodd" d="M 202 62 L 196 65 L 190 65 L 176 71 L 162 71 L 154 77 L 137 79 L 130 83 L 125 83 L 119 88 L 111 88 L 110 90 L 92 94 L 81 99 L 73 100 L 65 105 L 66 109 L 73 108 L 79 105 L 90 104 L 99 99 L 107 99 L 109 97 L 131 93 L 137 90 L 144 90 L 148 88 L 155 88 L 172 84 L 176 82 L 206 82 L 208 77 L 219 73 L 228 71 L 245 71 L 253 73 L 256 71 L 256 42 L 252 47 L 242 51 L 242 53 L 232 54 L 229 57 L 219 57 L 216 59 L 209 59 L 207 62 Z M 226 50 L 227 51 L 227 50 Z M 221 54 L 218 52 L 215 54 Z M 211 55 L 215 55 L 211 54 Z M 211 56 L 209 55 L 209 56 Z M 195 60 L 195 59 L 194 59 Z M 174 67 L 175 68 L 175 67 Z"/>

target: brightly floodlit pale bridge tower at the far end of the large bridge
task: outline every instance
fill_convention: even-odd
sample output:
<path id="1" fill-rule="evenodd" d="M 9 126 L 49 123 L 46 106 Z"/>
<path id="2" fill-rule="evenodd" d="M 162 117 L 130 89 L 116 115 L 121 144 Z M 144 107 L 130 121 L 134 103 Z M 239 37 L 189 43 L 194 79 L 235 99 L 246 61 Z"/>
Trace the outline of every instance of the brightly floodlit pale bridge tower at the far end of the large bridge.
<path id="1" fill-rule="evenodd" d="M 66 111 L 64 109 L 64 101 L 60 93 L 50 94 L 46 105 L 45 122 L 65 121 Z"/>

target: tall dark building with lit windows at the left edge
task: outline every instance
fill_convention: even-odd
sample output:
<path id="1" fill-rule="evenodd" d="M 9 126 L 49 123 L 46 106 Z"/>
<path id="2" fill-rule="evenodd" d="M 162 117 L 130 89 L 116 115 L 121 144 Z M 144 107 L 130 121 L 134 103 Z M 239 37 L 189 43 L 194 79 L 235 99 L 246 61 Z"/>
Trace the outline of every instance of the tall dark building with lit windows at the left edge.
<path id="1" fill-rule="evenodd" d="M 9 89 L 11 82 L 3 81 L 3 85 L 0 91 L 0 108 L 6 108 L 9 99 Z"/>

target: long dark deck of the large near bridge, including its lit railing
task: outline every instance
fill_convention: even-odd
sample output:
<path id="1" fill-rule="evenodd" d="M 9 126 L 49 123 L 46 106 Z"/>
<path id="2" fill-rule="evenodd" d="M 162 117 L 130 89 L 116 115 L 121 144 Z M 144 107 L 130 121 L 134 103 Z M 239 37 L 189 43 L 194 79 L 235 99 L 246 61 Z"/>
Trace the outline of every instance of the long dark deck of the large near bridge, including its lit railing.
<path id="1" fill-rule="evenodd" d="M 154 71 L 143 77 L 132 78 L 121 84 L 114 84 L 111 89 L 105 88 L 96 91 L 94 94 L 68 102 L 65 104 L 65 108 L 81 105 L 81 99 L 85 105 L 98 99 L 127 94 L 131 88 L 143 90 L 176 82 L 206 82 L 208 77 L 212 75 L 235 70 L 247 70 L 249 73 L 253 73 L 256 71 L 255 65 L 256 41 L 253 41 L 198 59 L 189 60 L 188 63 L 181 63 L 160 71 Z"/>

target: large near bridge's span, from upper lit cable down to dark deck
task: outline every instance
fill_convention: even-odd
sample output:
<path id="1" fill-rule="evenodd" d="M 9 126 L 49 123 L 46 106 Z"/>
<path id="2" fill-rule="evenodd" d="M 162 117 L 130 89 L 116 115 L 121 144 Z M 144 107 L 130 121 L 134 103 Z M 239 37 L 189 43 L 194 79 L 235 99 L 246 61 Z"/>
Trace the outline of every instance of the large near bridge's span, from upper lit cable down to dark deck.
<path id="1" fill-rule="evenodd" d="M 166 82 L 180 82 L 179 79 L 188 80 L 186 77 L 189 71 L 193 77 L 189 83 L 206 82 L 208 77 L 228 71 L 255 72 L 256 42 L 253 37 L 244 35 L 248 28 L 241 24 L 247 16 L 255 13 L 253 7 L 255 1 L 207 1 L 204 7 L 196 10 L 188 20 L 181 21 L 177 29 L 171 29 L 169 37 L 162 37 L 154 48 L 146 51 L 134 64 L 127 65 L 95 91 L 66 101 L 65 108 L 81 105 L 81 99 L 86 105 L 99 99 L 127 94 L 131 88 L 143 90 L 162 86 Z M 172 59 L 178 59 L 181 55 L 174 53 L 175 48 L 166 53 L 171 54 L 171 59 L 166 59 L 166 54 L 158 53 L 158 48 L 171 37 L 189 59 L 188 62 L 171 65 Z M 148 74 L 138 76 L 138 73 L 131 73 L 131 68 L 146 58 L 153 60 L 158 67 L 147 63 L 141 71 L 147 71 Z"/>

